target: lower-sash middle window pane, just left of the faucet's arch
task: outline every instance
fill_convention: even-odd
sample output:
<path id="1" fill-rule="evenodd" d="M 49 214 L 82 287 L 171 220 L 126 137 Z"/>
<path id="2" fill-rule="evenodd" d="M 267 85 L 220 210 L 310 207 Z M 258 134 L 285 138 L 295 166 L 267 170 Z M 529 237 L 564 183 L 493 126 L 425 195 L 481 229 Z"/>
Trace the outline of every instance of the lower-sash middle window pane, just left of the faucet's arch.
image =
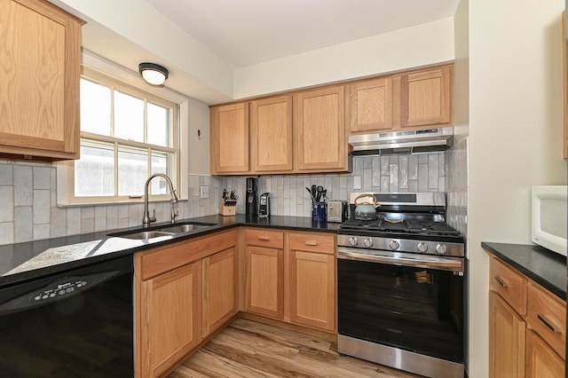
<path id="1" fill-rule="evenodd" d="M 118 195 L 144 195 L 148 178 L 148 152 L 134 147 L 118 147 Z"/>

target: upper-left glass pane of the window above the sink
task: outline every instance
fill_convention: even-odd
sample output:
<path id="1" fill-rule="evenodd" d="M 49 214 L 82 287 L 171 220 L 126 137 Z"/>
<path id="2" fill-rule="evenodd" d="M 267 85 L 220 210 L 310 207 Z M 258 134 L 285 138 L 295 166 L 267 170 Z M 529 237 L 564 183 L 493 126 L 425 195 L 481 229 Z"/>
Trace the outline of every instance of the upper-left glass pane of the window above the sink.
<path id="1" fill-rule="evenodd" d="M 110 88 L 81 78 L 81 130 L 110 136 Z"/>

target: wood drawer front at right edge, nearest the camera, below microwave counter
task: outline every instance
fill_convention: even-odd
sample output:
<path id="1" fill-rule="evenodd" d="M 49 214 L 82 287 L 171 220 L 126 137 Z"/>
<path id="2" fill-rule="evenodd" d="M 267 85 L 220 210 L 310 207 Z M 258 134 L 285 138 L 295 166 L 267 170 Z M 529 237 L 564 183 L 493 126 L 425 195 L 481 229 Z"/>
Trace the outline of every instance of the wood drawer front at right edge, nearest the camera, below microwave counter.
<path id="1" fill-rule="evenodd" d="M 566 303 L 533 283 L 528 285 L 528 327 L 533 329 L 560 356 L 566 350 Z"/>

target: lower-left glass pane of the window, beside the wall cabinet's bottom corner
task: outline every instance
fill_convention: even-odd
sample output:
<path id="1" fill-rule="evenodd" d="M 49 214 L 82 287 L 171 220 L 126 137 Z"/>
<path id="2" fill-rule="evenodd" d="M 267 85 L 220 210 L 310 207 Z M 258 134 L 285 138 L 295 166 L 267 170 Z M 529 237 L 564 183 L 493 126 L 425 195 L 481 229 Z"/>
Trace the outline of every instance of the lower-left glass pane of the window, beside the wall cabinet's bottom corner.
<path id="1" fill-rule="evenodd" d="M 75 161 L 75 196 L 114 196 L 114 145 L 81 140 Z"/>

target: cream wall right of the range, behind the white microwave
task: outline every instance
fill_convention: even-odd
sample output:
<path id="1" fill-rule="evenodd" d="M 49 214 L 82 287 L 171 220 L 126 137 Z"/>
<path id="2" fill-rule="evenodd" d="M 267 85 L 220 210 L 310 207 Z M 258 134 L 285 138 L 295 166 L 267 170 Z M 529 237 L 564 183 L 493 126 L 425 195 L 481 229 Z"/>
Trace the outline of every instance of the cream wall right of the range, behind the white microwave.
<path id="1" fill-rule="evenodd" d="M 531 244 L 530 187 L 565 185 L 564 0 L 469 2 L 469 376 L 488 375 L 488 256 Z"/>

